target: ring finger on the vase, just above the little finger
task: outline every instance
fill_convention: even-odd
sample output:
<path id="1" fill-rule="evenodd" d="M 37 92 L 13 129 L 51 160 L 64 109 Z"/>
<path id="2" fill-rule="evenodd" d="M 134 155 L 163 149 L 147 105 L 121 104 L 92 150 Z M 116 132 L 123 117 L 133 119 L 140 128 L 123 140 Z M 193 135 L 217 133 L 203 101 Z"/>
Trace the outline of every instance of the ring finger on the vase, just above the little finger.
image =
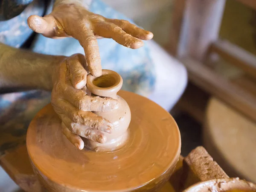
<path id="1" fill-rule="evenodd" d="M 67 128 L 74 134 L 85 137 L 88 140 L 96 141 L 98 143 L 105 143 L 107 141 L 107 137 L 101 131 L 90 129 L 84 125 L 74 123 L 69 118 L 67 118 L 67 116 L 63 116 L 61 119 Z"/>

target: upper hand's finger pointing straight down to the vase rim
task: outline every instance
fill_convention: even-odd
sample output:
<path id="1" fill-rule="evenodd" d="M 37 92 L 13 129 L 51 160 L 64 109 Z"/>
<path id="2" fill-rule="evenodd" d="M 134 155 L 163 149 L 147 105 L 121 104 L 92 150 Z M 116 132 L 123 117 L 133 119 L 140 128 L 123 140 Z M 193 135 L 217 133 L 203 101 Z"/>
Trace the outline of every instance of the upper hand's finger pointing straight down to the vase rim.
<path id="1" fill-rule="evenodd" d="M 102 66 L 99 55 L 99 47 L 96 37 L 90 29 L 85 28 L 76 34 L 76 39 L 79 40 L 84 48 L 85 58 L 88 64 L 90 73 L 93 76 L 99 77 L 102 75 Z"/>

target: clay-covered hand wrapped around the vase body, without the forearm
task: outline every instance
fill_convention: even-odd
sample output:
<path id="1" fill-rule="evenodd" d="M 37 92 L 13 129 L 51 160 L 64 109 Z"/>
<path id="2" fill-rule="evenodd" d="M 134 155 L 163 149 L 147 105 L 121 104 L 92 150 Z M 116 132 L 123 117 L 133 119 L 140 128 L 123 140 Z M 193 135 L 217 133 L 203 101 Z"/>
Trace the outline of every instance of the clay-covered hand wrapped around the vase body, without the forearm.
<path id="1" fill-rule="evenodd" d="M 51 99 L 62 120 L 63 134 L 79 149 L 84 148 L 79 136 L 105 143 L 104 132 L 112 133 L 113 125 L 90 111 L 108 111 L 119 106 L 114 99 L 89 96 L 81 90 L 86 85 L 85 66 L 86 61 L 81 54 L 72 55 L 58 65 Z"/>

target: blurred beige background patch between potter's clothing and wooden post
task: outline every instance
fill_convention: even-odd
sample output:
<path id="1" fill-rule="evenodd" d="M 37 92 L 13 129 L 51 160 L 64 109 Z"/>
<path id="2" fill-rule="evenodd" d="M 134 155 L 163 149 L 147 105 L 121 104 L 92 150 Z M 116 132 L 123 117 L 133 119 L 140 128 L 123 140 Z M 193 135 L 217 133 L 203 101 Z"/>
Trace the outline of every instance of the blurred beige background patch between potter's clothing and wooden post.
<path id="1" fill-rule="evenodd" d="M 154 41 L 166 45 L 170 38 L 173 0 L 103 0 L 154 33 Z"/>

